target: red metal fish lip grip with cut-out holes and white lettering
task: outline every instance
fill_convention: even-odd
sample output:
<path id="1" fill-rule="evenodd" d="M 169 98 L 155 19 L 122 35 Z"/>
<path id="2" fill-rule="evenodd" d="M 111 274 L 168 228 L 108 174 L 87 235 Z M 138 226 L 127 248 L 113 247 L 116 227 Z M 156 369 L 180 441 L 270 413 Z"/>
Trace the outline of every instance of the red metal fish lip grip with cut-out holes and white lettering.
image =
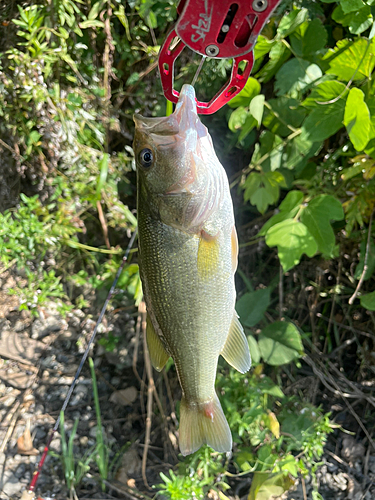
<path id="1" fill-rule="evenodd" d="M 228 82 L 209 101 L 197 100 L 200 114 L 215 113 L 242 90 L 254 64 L 253 49 L 270 15 L 281 0 L 181 0 L 178 20 L 159 54 L 165 97 L 176 103 L 174 63 L 185 47 L 203 57 L 233 58 Z M 243 61 L 243 64 L 240 64 Z"/>

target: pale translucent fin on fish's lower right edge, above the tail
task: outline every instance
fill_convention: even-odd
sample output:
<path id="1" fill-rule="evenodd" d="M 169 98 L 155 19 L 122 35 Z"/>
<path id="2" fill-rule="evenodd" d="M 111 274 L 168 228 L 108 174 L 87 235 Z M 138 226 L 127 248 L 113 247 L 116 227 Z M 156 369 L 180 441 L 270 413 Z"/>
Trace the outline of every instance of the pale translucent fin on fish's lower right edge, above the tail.
<path id="1" fill-rule="evenodd" d="M 237 313 L 233 315 L 227 341 L 221 351 L 221 355 L 240 373 L 246 373 L 251 366 L 249 344 L 245 337 L 242 325 L 239 322 Z"/>

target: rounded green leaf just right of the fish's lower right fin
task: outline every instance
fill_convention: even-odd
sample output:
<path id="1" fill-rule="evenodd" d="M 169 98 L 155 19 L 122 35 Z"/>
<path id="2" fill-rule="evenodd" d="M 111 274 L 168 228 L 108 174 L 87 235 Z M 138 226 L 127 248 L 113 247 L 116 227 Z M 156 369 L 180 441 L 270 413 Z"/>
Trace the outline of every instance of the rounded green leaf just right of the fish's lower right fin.
<path id="1" fill-rule="evenodd" d="M 272 366 L 280 366 L 298 359 L 303 353 L 298 328 L 288 321 L 275 321 L 266 326 L 259 335 L 262 358 Z"/>

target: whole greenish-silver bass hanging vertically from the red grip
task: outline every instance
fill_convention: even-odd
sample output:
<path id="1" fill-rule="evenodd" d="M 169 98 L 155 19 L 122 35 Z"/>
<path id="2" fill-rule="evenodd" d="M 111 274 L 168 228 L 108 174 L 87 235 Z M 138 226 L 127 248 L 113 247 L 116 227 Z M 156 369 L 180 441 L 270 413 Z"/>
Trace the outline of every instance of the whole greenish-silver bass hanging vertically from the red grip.
<path id="1" fill-rule="evenodd" d="M 181 385 L 179 446 L 232 450 L 215 391 L 219 355 L 250 369 L 235 311 L 238 240 L 228 177 L 184 85 L 168 117 L 134 115 L 139 269 L 153 367 L 171 356 Z"/>

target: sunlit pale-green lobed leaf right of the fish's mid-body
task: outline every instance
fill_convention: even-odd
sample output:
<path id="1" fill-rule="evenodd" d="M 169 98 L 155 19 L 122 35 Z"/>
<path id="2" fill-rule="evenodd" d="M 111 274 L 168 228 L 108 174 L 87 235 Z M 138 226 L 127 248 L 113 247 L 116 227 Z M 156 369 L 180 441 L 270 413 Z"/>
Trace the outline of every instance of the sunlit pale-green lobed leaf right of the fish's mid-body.
<path id="1" fill-rule="evenodd" d="M 318 245 L 305 224 L 294 219 L 272 226 L 267 231 L 266 243 L 269 247 L 277 246 L 284 272 L 296 266 L 302 254 L 312 257 L 318 251 Z"/>

